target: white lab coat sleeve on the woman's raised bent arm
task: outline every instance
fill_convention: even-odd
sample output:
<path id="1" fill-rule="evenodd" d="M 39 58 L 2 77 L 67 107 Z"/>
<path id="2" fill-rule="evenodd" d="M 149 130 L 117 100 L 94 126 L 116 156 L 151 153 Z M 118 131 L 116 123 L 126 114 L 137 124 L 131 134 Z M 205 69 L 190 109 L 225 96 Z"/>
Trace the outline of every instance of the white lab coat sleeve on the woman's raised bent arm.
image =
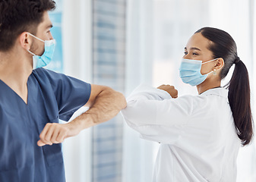
<path id="1" fill-rule="evenodd" d="M 141 85 L 127 99 L 122 115 L 128 126 L 146 140 L 174 143 L 190 118 L 191 96 L 172 99 L 166 91 Z"/>

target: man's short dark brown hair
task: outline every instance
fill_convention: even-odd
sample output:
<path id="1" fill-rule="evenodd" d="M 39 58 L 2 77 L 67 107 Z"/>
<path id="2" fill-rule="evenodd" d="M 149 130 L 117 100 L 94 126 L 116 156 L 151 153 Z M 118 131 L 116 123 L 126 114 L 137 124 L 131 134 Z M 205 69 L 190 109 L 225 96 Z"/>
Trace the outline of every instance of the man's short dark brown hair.
<path id="1" fill-rule="evenodd" d="M 8 51 L 21 33 L 36 34 L 43 13 L 55 9 L 52 0 L 1 0 L 0 51 Z"/>

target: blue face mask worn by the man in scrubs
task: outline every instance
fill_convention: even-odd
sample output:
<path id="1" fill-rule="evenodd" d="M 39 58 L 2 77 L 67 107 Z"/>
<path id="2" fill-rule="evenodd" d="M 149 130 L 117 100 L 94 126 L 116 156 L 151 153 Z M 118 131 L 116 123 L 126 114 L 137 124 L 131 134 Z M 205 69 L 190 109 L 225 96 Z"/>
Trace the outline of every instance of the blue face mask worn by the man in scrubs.
<path id="1" fill-rule="evenodd" d="M 30 36 L 33 36 L 33 34 L 30 33 Z M 55 39 L 43 41 L 42 39 L 36 36 L 33 36 L 33 37 L 45 43 L 45 51 L 41 56 L 35 55 L 33 52 L 30 52 L 30 50 L 27 50 L 28 52 L 30 52 L 31 55 L 33 55 L 33 70 L 34 70 L 39 67 L 45 67 L 47 64 L 49 64 L 50 61 L 52 61 L 56 41 Z"/>

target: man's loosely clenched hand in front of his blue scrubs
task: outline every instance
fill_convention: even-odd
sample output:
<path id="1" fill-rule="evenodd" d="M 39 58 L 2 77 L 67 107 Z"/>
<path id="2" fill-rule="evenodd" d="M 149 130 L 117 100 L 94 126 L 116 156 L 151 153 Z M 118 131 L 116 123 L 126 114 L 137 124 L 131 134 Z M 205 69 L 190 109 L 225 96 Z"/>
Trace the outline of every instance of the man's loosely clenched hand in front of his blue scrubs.
<path id="1" fill-rule="evenodd" d="M 48 123 L 40 133 L 38 146 L 52 145 L 52 143 L 62 143 L 66 138 L 73 137 L 80 133 L 79 127 L 68 124 Z"/>

